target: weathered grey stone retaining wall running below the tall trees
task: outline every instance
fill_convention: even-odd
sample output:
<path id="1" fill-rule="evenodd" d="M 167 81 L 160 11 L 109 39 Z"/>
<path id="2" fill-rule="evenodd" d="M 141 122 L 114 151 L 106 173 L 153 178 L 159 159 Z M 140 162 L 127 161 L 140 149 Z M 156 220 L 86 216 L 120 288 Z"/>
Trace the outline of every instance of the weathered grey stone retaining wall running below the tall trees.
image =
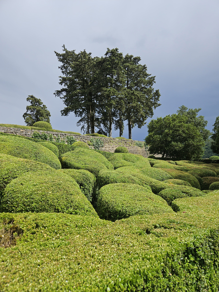
<path id="1" fill-rule="evenodd" d="M 114 152 L 115 148 L 119 146 L 125 146 L 128 148 L 129 153 L 140 154 L 144 157 L 147 157 L 149 154 L 146 152 L 145 147 L 139 147 L 137 144 L 139 142 L 144 143 L 143 141 L 135 141 L 128 139 L 116 139 L 116 138 L 105 138 L 105 137 L 93 137 L 87 135 L 73 135 L 67 133 L 59 133 L 59 132 L 50 132 L 50 131 L 40 131 L 40 130 L 29 130 L 29 129 L 21 129 L 21 128 L 9 128 L 9 127 L 0 127 L 0 132 L 7 134 L 14 134 L 25 137 L 32 137 L 34 132 L 52 134 L 55 137 L 60 136 L 61 139 L 66 141 L 67 136 L 72 136 L 76 141 L 82 141 L 88 143 L 93 139 L 101 139 L 104 143 L 104 146 L 101 148 L 103 151 Z M 90 148 L 93 148 L 90 146 Z"/>

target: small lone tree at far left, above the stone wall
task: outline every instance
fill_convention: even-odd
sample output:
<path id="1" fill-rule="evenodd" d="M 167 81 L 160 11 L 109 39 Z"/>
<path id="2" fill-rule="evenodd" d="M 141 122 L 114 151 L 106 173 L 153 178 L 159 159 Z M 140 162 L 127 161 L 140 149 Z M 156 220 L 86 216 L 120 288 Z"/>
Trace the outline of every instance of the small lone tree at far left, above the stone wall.
<path id="1" fill-rule="evenodd" d="M 23 114 L 23 118 L 27 126 L 33 126 L 34 123 L 38 121 L 50 123 L 51 114 L 49 110 L 47 110 L 47 107 L 42 103 L 41 99 L 36 98 L 34 95 L 28 95 L 27 101 L 31 103 L 30 106 L 26 107 L 27 111 Z"/>

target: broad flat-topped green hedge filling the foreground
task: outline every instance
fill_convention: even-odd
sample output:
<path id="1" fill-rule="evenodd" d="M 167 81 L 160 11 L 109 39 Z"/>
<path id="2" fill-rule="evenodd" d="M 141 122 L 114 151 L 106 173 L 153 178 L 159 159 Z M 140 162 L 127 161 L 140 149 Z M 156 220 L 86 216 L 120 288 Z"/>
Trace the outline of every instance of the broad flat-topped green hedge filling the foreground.
<path id="1" fill-rule="evenodd" d="M 219 233 L 207 223 L 186 213 L 116 222 L 2 213 L 1 232 L 23 233 L 16 246 L 0 248 L 1 291 L 218 292 Z"/>

